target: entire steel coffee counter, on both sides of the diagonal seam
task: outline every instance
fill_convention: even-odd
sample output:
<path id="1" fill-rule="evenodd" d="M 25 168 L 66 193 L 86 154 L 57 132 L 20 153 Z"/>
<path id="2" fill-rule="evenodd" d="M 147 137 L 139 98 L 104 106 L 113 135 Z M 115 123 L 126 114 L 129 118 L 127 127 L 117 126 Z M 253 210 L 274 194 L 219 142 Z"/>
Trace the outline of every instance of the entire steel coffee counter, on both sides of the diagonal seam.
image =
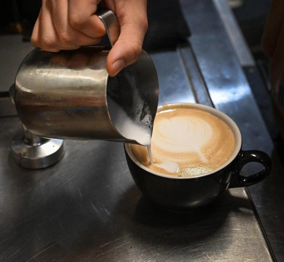
<path id="1" fill-rule="evenodd" d="M 206 208 L 174 213 L 143 197 L 123 144 L 65 140 L 57 164 L 24 169 L 10 152 L 11 139 L 22 130 L 20 119 L 2 117 L 0 261 L 283 260 L 284 216 L 276 208 L 284 199 L 276 185 L 282 181 L 280 165 L 242 69 L 254 68 L 254 62 L 233 44 L 242 39 L 230 34 L 238 28 L 228 21 L 228 9 L 221 12 L 222 1 L 206 7 L 191 2 L 180 1 L 192 32 L 188 44 L 150 54 L 159 104 L 203 103 L 228 114 L 241 129 L 243 149 L 272 156 L 276 167 L 270 177 L 250 188 L 229 189 Z M 253 172 L 250 168 L 255 167 L 246 172 Z"/>

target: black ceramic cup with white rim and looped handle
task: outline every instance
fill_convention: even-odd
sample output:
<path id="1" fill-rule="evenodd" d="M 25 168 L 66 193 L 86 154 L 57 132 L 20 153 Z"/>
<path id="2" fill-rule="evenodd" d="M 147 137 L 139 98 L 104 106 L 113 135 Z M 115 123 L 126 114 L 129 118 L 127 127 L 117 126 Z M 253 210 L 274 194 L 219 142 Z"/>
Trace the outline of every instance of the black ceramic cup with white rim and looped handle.
<path id="1" fill-rule="evenodd" d="M 125 144 L 125 156 L 130 173 L 142 193 L 160 206 L 174 211 L 188 211 L 205 206 L 217 199 L 227 188 L 246 187 L 265 179 L 271 170 L 270 157 L 258 150 L 241 150 L 241 132 L 235 122 L 221 111 L 209 106 L 191 103 L 167 104 L 167 109 L 179 106 L 205 110 L 222 119 L 233 131 L 235 149 L 232 156 L 219 168 L 194 177 L 176 177 L 155 172 L 143 166 L 133 156 L 130 145 Z M 158 107 L 158 112 L 163 106 Z M 255 174 L 241 174 L 243 166 L 258 162 L 263 169 Z"/>

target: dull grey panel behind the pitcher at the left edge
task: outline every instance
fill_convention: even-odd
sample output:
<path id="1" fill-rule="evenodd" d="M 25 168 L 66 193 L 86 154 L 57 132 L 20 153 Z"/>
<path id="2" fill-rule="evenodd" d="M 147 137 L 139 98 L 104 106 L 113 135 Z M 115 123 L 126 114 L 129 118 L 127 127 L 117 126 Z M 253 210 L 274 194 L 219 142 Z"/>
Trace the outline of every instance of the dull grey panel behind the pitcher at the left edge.
<path id="1" fill-rule="evenodd" d="M 0 92 L 8 92 L 22 60 L 33 48 L 22 41 L 22 35 L 0 35 Z"/>

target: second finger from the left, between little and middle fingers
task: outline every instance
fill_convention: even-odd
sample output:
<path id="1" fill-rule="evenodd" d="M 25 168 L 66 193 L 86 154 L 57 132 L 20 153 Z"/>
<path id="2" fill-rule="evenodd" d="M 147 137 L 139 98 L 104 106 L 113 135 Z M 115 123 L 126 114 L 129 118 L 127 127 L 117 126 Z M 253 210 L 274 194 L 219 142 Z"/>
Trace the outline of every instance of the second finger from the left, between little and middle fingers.
<path id="1" fill-rule="evenodd" d="M 43 1 L 42 3 L 42 12 L 41 12 L 41 20 L 40 20 L 40 36 L 41 36 L 41 48 L 45 51 L 59 51 L 61 49 L 77 49 L 79 45 L 70 45 L 64 46 L 62 45 L 58 35 L 56 28 L 52 19 L 52 7 L 50 1 Z"/>

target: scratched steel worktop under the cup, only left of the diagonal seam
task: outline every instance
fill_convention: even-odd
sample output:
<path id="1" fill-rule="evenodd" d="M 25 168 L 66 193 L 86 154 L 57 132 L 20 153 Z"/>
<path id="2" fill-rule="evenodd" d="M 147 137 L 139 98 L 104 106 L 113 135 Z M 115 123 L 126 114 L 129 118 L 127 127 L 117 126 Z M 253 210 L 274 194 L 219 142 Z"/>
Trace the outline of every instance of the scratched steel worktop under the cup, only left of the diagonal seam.
<path id="1" fill-rule="evenodd" d="M 151 55 L 160 103 L 195 101 L 186 52 Z M 58 164 L 26 170 L 9 150 L 20 128 L 17 117 L 0 119 L 0 261 L 272 261 L 244 189 L 170 213 L 143 198 L 122 144 L 67 140 Z"/>

